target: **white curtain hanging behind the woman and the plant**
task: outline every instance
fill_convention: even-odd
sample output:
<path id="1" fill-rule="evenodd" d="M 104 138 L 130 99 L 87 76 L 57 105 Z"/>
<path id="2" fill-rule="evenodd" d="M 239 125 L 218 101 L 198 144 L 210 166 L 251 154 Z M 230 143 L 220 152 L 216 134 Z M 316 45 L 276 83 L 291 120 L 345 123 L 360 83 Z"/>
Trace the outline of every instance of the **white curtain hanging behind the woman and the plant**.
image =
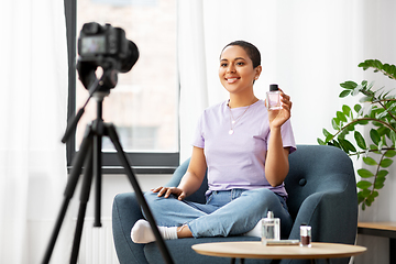
<path id="1" fill-rule="evenodd" d="M 252 42 L 262 53 L 256 96 L 264 98 L 272 82 L 292 96 L 298 144 L 317 144 L 323 128 L 332 130 L 336 111 L 358 101 L 340 99 L 339 84 L 367 79 L 376 80 L 377 87 L 395 88 L 395 81 L 358 67 L 369 58 L 396 64 L 394 0 L 182 0 L 178 13 L 182 160 L 190 155 L 199 114 L 228 98 L 218 67 L 220 52 L 231 41 Z M 394 174 L 375 205 L 361 212 L 361 220 L 396 221 Z"/>

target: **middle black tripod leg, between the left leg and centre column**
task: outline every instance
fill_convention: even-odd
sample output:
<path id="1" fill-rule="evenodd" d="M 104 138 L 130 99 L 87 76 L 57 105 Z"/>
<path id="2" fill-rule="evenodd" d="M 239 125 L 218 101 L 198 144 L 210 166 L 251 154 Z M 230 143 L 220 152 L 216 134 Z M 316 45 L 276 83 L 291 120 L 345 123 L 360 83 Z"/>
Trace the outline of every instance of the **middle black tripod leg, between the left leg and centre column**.
<path id="1" fill-rule="evenodd" d="M 86 160 L 85 163 L 84 182 L 80 194 L 80 207 L 78 210 L 75 238 L 73 241 L 70 264 L 77 263 L 79 246 L 81 242 L 82 228 L 84 228 L 84 219 L 87 211 L 87 204 L 89 200 L 91 183 L 92 183 L 92 147 L 89 147 L 88 158 Z"/>

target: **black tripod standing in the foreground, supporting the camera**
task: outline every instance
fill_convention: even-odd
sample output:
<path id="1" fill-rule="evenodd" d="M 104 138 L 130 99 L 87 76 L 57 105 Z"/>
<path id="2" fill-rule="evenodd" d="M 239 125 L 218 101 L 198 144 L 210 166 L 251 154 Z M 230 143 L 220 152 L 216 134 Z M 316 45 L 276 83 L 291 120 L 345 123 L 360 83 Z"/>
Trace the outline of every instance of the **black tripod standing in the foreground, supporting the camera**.
<path id="1" fill-rule="evenodd" d="M 103 76 L 106 76 L 106 74 L 103 74 Z M 102 78 L 103 78 L 103 76 L 102 76 Z M 160 234 L 160 231 L 157 229 L 157 226 L 155 223 L 153 215 L 148 208 L 148 205 L 146 204 L 146 201 L 144 199 L 143 193 L 138 184 L 138 180 L 136 180 L 135 175 L 130 166 L 127 155 L 122 150 L 116 128 L 112 123 L 105 123 L 102 120 L 102 101 L 103 101 L 103 98 L 110 94 L 110 91 L 106 90 L 106 89 L 105 89 L 105 91 L 96 91 L 98 89 L 98 84 L 101 85 L 102 81 L 99 81 L 99 80 L 95 81 L 95 84 L 92 84 L 91 88 L 89 89 L 90 97 L 94 96 L 94 98 L 96 98 L 96 100 L 97 100 L 97 119 L 94 120 L 90 125 L 88 125 L 88 128 L 85 132 L 84 140 L 80 145 L 80 150 L 73 161 L 73 168 L 72 168 L 72 172 L 70 172 L 65 191 L 64 191 L 64 201 L 62 204 L 61 211 L 56 219 L 55 227 L 54 227 L 54 230 L 53 230 L 53 233 L 52 233 L 52 237 L 51 237 L 51 240 L 50 240 L 50 243 L 46 249 L 44 260 L 42 263 L 47 264 L 50 262 L 52 252 L 53 252 L 55 243 L 56 243 L 56 239 L 57 239 L 61 228 L 62 228 L 62 222 L 65 218 L 69 201 L 75 193 L 75 189 L 76 189 L 76 186 L 78 183 L 78 178 L 82 170 L 82 166 L 84 166 L 84 180 L 82 180 L 82 186 L 81 186 L 78 218 L 77 218 L 77 224 L 76 224 L 70 262 L 69 262 L 70 264 L 77 263 L 79 245 L 80 245 L 80 241 L 81 241 L 82 227 L 84 227 L 84 218 L 86 215 L 86 209 L 87 209 L 87 205 L 88 205 L 88 200 L 89 200 L 90 187 L 91 187 L 94 175 L 96 176 L 96 187 L 97 187 L 94 227 L 101 227 L 101 223 L 100 223 L 101 141 L 102 141 L 102 136 L 109 136 L 112 144 L 114 145 L 114 147 L 117 150 L 118 157 L 120 158 L 120 162 L 122 163 L 122 166 L 125 169 L 127 176 L 128 176 L 130 183 L 132 184 L 132 187 L 136 194 L 138 201 L 139 201 L 140 206 L 142 207 L 147 221 L 151 224 L 151 228 L 155 235 L 156 243 L 157 243 L 157 246 L 160 248 L 162 256 L 165 260 L 165 263 L 173 264 L 170 254 L 166 248 L 166 244 L 165 244 L 163 238 Z M 87 102 L 88 102 L 88 100 L 87 100 Z M 80 109 L 80 111 L 78 112 L 76 118 L 79 119 L 82 116 L 82 112 L 84 112 L 82 109 Z M 64 139 L 67 136 L 67 134 L 70 134 L 73 127 L 76 125 L 77 122 L 78 122 L 78 120 L 77 121 L 74 120 L 72 122 L 72 125 L 70 125 L 72 128 L 70 127 L 68 128 L 68 131 L 66 132 Z"/>

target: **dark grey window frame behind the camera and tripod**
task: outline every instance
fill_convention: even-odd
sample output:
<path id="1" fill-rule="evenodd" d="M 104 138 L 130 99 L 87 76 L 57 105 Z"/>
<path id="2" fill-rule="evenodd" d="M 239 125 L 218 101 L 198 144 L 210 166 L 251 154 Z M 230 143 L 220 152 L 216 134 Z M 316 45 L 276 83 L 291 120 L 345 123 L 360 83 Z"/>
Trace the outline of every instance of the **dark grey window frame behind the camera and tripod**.
<path id="1" fill-rule="evenodd" d="M 64 0 L 64 7 L 68 61 L 67 120 L 72 120 L 76 116 L 77 0 Z M 178 135 L 178 141 L 179 139 Z M 125 154 L 131 167 L 138 174 L 173 174 L 179 165 L 179 148 L 180 144 L 178 144 L 177 152 L 125 152 Z M 73 133 L 66 142 L 68 169 L 72 168 L 72 161 L 75 155 L 76 133 Z M 102 174 L 124 174 L 124 168 L 116 152 L 102 152 L 101 156 Z"/>

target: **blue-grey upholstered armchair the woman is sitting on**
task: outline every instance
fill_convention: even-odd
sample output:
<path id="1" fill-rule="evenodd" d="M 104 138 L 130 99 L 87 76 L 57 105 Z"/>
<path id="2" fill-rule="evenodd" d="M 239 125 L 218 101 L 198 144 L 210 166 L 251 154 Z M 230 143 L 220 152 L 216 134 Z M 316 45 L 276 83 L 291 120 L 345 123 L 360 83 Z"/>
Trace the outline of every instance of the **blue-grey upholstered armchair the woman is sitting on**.
<path id="1" fill-rule="evenodd" d="M 188 162 L 174 173 L 168 186 L 177 186 Z M 353 165 L 349 156 L 332 146 L 298 145 L 289 155 L 290 170 L 285 186 L 287 205 L 294 219 L 289 239 L 299 239 L 299 227 L 312 227 L 314 242 L 353 244 L 358 228 L 358 197 Z M 207 182 L 187 199 L 205 202 Z M 120 194 L 114 198 L 112 224 L 117 254 L 121 264 L 164 263 L 155 243 L 135 244 L 130 238 L 133 224 L 143 218 L 134 193 Z M 205 256 L 191 250 L 191 245 L 224 241 L 258 241 L 252 237 L 200 238 L 166 241 L 177 264 L 230 263 L 230 258 Z M 331 263 L 348 263 L 349 258 L 333 258 Z M 266 260 L 246 260 L 246 264 L 270 263 Z M 280 263 L 310 263 L 304 260 L 283 260 Z"/>

